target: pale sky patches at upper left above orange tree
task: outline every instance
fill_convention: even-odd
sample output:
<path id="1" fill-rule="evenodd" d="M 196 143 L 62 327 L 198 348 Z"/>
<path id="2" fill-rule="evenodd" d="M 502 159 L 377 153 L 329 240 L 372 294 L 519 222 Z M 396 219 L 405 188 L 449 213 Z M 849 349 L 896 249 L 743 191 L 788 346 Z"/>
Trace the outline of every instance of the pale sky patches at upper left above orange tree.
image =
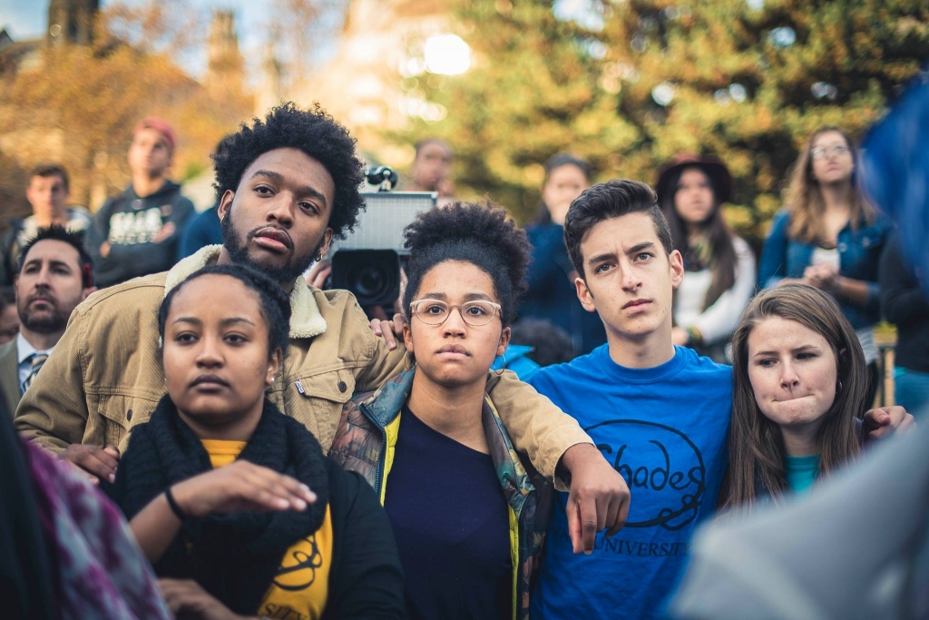
<path id="1" fill-rule="evenodd" d="M 131 0 L 130 0 L 131 1 Z M 239 48 L 245 59 L 263 59 L 264 42 L 261 28 L 244 28 L 243 24 L 262 24 L 267 20 L 268 0 L 187 0 L 193 7 L 231 8 L 235 11 L 236 31 Z M 0 0 L 0 29 L 6 28 L 14 41 L 43 36 L 48 19 L 49 0 Z M 101 7 L 111 4 L 101 0 Z M 208 25 L 204 24 L 204 27 Z M 205 54 L 196 58 L 182 59 L 185 71 L 191 75 L 203 75 L 206 65 Z"/>

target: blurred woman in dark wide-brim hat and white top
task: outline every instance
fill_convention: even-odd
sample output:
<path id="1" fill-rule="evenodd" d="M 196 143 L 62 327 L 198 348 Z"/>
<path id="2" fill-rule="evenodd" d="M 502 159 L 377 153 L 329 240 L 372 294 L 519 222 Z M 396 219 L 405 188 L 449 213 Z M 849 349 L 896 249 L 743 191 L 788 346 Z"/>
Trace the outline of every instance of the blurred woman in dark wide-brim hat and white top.
<path id="1" fill-rule="evenodd" d="M 656 190 L 687 275 L 674 292 L 674 344 L 717 362 L 754 292 L 752 249 L 723 219 L 732 175 L 710 155 L 682 154 L 661 167 Z"/>

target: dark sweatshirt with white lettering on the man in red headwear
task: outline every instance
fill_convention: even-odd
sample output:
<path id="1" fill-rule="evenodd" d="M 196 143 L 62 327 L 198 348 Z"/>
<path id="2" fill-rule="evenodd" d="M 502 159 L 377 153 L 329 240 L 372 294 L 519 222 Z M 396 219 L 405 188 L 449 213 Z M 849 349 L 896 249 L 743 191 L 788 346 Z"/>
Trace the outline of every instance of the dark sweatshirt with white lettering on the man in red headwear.
<path id="1" fill-rule="evenodd" d="M 164 181 L 162 189 L 145 198 L 139 198 L 131 184 L 111 198 L 94 216 L 85 241 L 94 258 L 98 286 L 171 269 L 177 259 L 177 240 L 193 215 L 193 203 L 171 181 Z M 175 230 L 156 241 L 167 224 L 174 224 Z M 105 241 L 111 244 L 110 254 L 101 257 L 100 244 Z"/>

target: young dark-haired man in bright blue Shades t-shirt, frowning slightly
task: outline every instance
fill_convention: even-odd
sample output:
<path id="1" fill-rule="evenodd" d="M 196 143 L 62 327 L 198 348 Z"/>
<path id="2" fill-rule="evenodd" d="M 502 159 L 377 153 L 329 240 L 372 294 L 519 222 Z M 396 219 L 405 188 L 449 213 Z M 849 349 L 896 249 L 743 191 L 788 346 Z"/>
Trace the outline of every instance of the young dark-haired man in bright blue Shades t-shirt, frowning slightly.
<path id="1" fill-rule="evenodd" d="M 530 383 L 578 419 L 626 479 L 631 503 L 622 532 L 597 534 L 589 555 L 574 555 L 565 513 L 553 510 L 532 617 L 656 617 L 694 528 L 716 505 L 732 372 L 672 344 L 684 262 L 648 185 L 613 180 L 584 191 L 565 241 L 578 297 L 599 312 L 608 343 Z"/>

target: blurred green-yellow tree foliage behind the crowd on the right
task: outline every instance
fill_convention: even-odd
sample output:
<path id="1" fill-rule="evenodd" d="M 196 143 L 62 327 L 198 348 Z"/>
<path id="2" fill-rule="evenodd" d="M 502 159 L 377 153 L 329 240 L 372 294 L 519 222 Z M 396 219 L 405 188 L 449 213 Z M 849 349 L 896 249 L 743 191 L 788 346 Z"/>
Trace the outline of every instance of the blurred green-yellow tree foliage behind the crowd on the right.
<path id="1" fill-rule="evenodd" d="M 924 0 L 459 0 L 454 29 L 473 67 L 406 78 L 447 113 L 394 138 L 449 140 L 462 191 L 525 220 L 555 152 L 648 182 L 677 152 L 714 153 L 736 178 L 727 216 L 755 238 L 805 137 L 860 133 L 929 58 Z"/>

